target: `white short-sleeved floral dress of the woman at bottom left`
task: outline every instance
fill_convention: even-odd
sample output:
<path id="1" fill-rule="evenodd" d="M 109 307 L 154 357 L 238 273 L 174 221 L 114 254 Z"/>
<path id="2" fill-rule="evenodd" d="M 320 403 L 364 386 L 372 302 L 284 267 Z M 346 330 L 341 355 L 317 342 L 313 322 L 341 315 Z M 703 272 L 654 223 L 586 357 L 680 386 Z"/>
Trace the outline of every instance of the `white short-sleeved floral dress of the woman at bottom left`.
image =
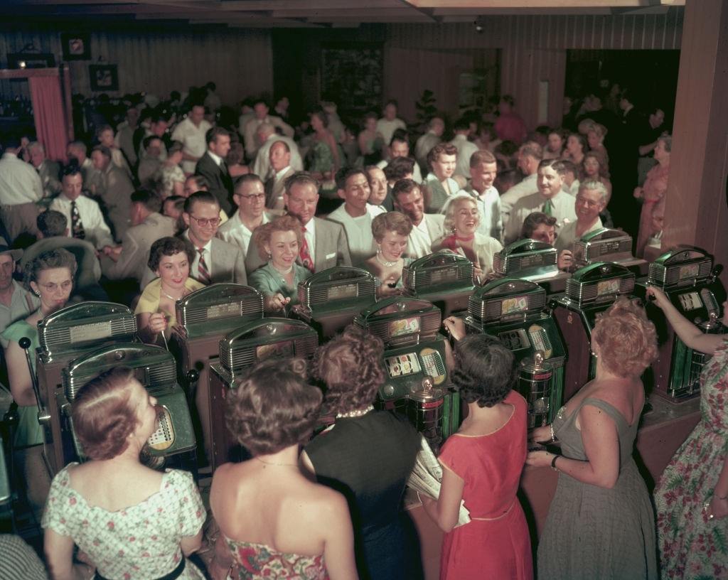
<path id="1" fill-rule="evenodd" d="M 112 579 L 154 579 L 173 571 L 183 557 L 180 541 L 195 536 L 205 523 L 205 507 L 188 472 L 170 469 L 162 485 L 140 504 L 108 512 L 71 487 L 70 464 L 53 478 L 43 528 L 71 536 L 89 555 L 101 576 Z M 186 562 L 179 578 L 205 576 Z"/>

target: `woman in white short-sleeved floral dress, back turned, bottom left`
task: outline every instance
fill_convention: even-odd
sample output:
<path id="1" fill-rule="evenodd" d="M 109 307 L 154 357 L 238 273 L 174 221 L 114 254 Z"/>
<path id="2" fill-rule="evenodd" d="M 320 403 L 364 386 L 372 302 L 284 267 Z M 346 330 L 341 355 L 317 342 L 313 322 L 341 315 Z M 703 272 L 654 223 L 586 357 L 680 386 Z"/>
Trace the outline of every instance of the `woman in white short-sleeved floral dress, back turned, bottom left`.
<path id="1" fill-rule="evenodd" d="M 205 578 L 186 560 L 199 548 L 206 515 L 191 474 L 139 461 L 157 430 L 156 403 L 126 367 L 76 395 L 74 432 L 91 461 L 69 464 L 53 479 L 42 521 L 52 578 L 90 577 L 74 564 L 74 544 L 103 578 Z"/>

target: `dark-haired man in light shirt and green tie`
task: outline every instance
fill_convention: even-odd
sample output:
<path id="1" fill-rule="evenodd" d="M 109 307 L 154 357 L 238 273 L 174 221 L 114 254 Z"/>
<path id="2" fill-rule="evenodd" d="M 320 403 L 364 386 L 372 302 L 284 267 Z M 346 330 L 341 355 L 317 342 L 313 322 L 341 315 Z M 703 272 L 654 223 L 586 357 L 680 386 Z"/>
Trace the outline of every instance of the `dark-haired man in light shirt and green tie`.
<path id="1" fill-rule="evenodd" d="M 574 198 L 563 191 L 561 180 L 561 162 L 558 159 L 543 159 L 537 170 L 537 187 L 535 194 L 521 197 L 510 210 L 510 217 L 505 224 L 505 242 L 510 244 L 521 234 L 523 220 L 531 212 L 543 212 L 556 218 L 556 231 L 577 219 L 574 210 Z"/>

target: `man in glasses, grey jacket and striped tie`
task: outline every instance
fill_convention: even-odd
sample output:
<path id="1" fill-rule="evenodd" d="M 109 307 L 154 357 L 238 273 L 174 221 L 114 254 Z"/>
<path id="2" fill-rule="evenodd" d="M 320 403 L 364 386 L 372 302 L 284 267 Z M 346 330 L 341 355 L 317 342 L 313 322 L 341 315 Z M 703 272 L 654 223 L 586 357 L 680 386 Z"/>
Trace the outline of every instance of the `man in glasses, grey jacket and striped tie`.
<path id="1" fill-rule="evenodd" d="M 245 254 L 238 246 L 216 238 L 220 226 L 220 204 L 208 191 L 189 196 L 182 213 L 187 229 L 181 234 L 195 249 L 189 275 L 202 284 L 234 282 L 247 284 Z"/>

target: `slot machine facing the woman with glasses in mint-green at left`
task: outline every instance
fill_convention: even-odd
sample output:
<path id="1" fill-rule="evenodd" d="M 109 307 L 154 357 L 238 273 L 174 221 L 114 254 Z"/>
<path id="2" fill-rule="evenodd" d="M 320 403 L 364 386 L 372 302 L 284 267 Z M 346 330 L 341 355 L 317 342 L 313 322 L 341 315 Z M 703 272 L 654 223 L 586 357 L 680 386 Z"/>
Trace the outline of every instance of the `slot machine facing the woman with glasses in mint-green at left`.
<path id="1" fill-rule="evenodd" d="M 36 353 L 41 405 L 47 410 L 43 453 L 51 475 L 68 463 L 74 453 L 63 447 L 63 368 L 71 359 L 111 343 L 136 341 L 134 313 L 121 304 L 82 302 L 50 314 L 38 323 L 39 349 Z"/>

